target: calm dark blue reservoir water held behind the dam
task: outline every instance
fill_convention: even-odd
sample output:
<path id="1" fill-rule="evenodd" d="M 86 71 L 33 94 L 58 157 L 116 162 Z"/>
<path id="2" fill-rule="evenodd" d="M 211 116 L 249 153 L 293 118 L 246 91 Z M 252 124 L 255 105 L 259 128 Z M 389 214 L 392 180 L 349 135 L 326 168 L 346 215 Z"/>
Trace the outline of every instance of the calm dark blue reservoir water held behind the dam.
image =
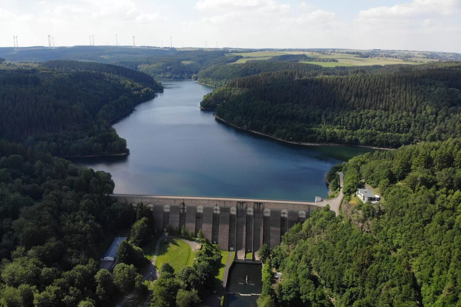
<path id="1" fill-rule="evenodd" d="M 201 195 L 313 201 L 325 197 L 332 165 L 370 151 L 287 145 L 220 124 L 200 111 L 213 88 L 162 80 L 165 92 L 114 124 L 130 155 L 73 159 L 108 171 L 114 193 Z"/>

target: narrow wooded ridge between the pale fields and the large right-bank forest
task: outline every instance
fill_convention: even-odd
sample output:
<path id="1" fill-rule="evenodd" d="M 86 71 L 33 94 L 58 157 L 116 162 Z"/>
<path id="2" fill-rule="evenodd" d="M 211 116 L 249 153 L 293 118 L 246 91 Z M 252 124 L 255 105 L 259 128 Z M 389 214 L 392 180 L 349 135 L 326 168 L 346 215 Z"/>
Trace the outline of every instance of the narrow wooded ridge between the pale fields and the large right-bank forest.
<path id="1" fill-rule="evenodd" d="M 273 57 L 275 58 L 275 57 Z M 273 59 L 272 58 L 272 59 Z M 301 59 L 301 58 L 299 58 Z M 298 59 L 298 60 L 299 60 Z M 298 62 L 298 61 L 296 61 Z M 214 65 L 204 69 L 198 74 L 198 82 L 221 86 L 227 84 L 230 80 L 241 77 L 253 76 L 262 72 L 274 71 L 296 71 L 298 78 L 317 77 L 319 75 L 337 75 L 345 76 L 349 74 L 357 74 L 359 72 L 374 71 L 383 69 L 381 65 L 352 67 L 352 66 L 336 66 L 323 67 L 314 64 L 296 63 L 290 60 L 260 60 L 248 61 L 242 64 L 232 65 Z M 394 65 L 396 66 L 396 65 Z"/>

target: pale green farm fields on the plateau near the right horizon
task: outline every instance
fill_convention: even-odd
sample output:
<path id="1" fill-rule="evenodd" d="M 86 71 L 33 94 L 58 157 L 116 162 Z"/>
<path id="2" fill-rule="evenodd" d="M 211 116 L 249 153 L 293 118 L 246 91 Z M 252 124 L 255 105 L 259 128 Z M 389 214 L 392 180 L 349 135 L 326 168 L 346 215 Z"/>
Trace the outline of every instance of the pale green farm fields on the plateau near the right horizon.
<path id="1" fill-rule="evenodd" d="M 351 50 L 355 51 L 355 50 Z M 357 50 L 360 52 L 360 50 Z M 362 50 L 363 51 L 363 50 Z M 264 60 L 271 59 L 274 56 L 284 55 L 284 54 L 306 54 L 309 57 L 313 58 L 328 58 L 328 59 L 337 59 L 338 62 L 304 62 L 309 64 L 321 65 L 324 67 L 335 67 L 335 66 L 364 66 L 364 65 L 391 65 L 391 64 L 422 64 L 417 62 L 404 62 L 402 59 L 394 58 L 358 58 L 355 57 L 355 54 L 345 54 L 345 53 L 331 53 L 331 54 L 321 54 L 316 52 L 308 51 L 258 51 L 258 52 L 249 52 L 249 53 L 229 53 L 229 55 L 241 55 L 244 58 L 237 60 L 235 63 L 246 63 L 248 60 Z M 394 53 L 393 53 L 394 54 Z M 395 53 L 398 55 L 408 54 L 406 52 Z M 411 53 L 414 55 L 413 60 L 418 62 L 431 62 L 432 59 L 424 59 L 423 55 L 417 53 Z"/>

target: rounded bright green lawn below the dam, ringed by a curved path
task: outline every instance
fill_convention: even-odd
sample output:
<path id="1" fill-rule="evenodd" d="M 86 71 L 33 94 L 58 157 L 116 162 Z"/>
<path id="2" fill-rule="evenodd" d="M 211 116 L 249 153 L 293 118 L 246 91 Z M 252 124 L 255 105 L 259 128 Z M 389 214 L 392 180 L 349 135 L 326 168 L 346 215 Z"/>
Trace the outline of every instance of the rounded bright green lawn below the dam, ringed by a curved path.
<path id="1" fill-rule="evenodd" d="M 162 263 L 168 262 L 175 272 L 181 271 L 185 266 L 192 266 L 195 253 L 189 244 L 177 238 L 167 238 L 168 244 L 160 243 L 159 254 L 155 261 L 157 270 L 160 271 Z"/>

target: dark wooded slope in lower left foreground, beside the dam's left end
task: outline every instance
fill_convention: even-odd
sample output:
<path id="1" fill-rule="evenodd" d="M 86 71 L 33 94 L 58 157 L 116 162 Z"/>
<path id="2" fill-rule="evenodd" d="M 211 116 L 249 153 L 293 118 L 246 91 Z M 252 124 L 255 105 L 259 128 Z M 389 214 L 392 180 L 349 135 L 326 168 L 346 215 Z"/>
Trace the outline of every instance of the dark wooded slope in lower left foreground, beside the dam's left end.
<path id="1" fill-rule="evenodd" d="M 105 196 L 110 174 L 5 140 L 0 157 L 0 306 L 114 306 L 142 286 L 133 266 L 111 274 L 95 261 L 136 218 Z"/>

